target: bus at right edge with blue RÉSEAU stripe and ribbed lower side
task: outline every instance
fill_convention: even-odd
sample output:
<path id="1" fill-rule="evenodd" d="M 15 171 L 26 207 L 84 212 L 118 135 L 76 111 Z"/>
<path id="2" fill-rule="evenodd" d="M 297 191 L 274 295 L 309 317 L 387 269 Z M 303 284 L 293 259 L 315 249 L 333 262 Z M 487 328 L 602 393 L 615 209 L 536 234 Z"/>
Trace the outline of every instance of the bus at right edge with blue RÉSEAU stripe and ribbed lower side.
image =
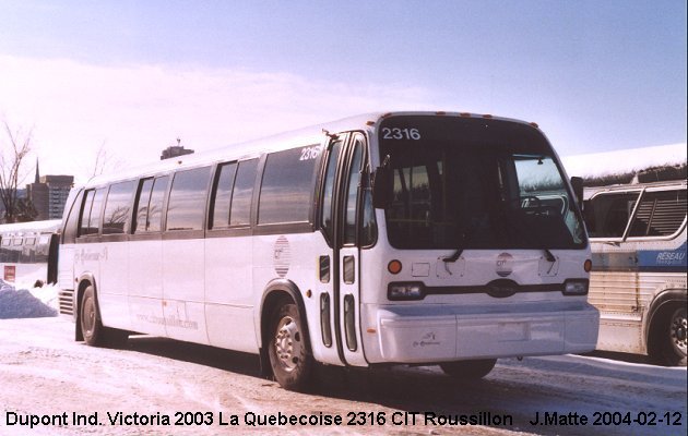
<path id="1" fill-rule="evenodd" d="M 598 350 L 686 366 L 686 180 L 585 190 Z"/>

